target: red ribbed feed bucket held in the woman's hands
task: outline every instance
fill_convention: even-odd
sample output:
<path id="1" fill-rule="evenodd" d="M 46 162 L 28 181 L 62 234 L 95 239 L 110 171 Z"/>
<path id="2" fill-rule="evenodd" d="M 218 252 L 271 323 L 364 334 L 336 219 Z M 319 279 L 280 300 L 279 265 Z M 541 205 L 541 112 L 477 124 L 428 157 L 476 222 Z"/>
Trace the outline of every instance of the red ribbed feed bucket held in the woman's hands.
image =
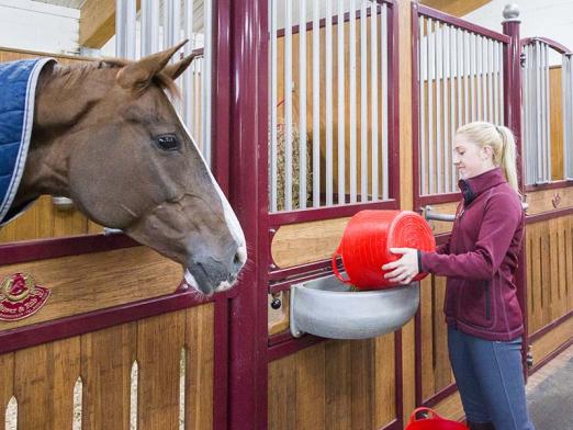
<path id="1" fill-rule="evenodd" d="M 338 249 L 333 256 L 336 276 L 360 290 L 382 290 L 395 284 L 384 279 L 382 265 L 402 256 L 390 248 L 436 249 L 436 239 L 428 223 L 409 211 L 361 211 L 350 218 Z M 342 279 L 336 267 L 341 257 L 348 279 Z M 427 273 L 419 273 L 415 281 Z"/>

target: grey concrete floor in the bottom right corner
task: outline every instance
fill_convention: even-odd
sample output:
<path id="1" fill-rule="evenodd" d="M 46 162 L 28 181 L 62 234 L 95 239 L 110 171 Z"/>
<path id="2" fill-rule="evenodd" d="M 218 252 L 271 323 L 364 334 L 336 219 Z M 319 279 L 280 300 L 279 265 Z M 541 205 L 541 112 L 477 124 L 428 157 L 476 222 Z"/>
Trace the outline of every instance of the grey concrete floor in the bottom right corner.
<path id="1" fill-rule="evenodd" d="M 573 430 L 573 346 L 528 378 L 527 401 L 537 430 Z"/>

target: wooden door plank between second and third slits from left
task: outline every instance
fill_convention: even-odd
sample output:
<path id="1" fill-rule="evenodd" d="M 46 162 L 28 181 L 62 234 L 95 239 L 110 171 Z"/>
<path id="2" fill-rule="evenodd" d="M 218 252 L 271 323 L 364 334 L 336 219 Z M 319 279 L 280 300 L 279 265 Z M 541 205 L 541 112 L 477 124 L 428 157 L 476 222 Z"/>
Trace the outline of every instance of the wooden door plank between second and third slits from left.
<path id="1" fill-rule="evenodd" d="M 130 430 L 136 322 L 81 337 L 82 428 Z"/>

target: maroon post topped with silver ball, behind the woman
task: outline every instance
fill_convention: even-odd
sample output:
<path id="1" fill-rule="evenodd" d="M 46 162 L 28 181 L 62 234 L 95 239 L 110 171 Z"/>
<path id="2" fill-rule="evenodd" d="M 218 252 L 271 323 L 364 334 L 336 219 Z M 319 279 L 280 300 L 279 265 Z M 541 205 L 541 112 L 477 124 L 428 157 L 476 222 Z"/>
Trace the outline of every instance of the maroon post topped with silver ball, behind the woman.
<path id="1" fill-rule="evenodd" d="M 515 4 L 505 7 L 503 21 L 504 34 L 510 37 L 509 44 L 504 47 L 504 100 L 505 100 L 505 124 L 514 133 L 517 145 L 517 180 L 519 189 L 525 192 L 525 163 L 524 163 L 524 139 L 521 129 L 521 39 L 519 36 L 519 10 Z M 518 259 L 516 273 L 517 299 L 524 313 L 524 376 L 527 378 L 527 273 L 526 273 L 526 240 Z"/>

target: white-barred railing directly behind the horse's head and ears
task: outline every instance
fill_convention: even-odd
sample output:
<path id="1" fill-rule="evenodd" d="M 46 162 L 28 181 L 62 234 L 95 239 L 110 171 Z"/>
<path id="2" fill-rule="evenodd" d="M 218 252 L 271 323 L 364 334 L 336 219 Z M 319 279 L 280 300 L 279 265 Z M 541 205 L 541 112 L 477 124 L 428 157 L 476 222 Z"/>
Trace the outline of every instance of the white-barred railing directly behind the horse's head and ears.
<path id="1" fill-rule="evenodd" d="M 203 52 L 179 78 L 173 104 L 211 165 L 211 1 L 116 0 L 115 55 L 137 59 L 189 39 L 184 55 Z M 172 61 L 179 59 L 173 56 Z"/>

